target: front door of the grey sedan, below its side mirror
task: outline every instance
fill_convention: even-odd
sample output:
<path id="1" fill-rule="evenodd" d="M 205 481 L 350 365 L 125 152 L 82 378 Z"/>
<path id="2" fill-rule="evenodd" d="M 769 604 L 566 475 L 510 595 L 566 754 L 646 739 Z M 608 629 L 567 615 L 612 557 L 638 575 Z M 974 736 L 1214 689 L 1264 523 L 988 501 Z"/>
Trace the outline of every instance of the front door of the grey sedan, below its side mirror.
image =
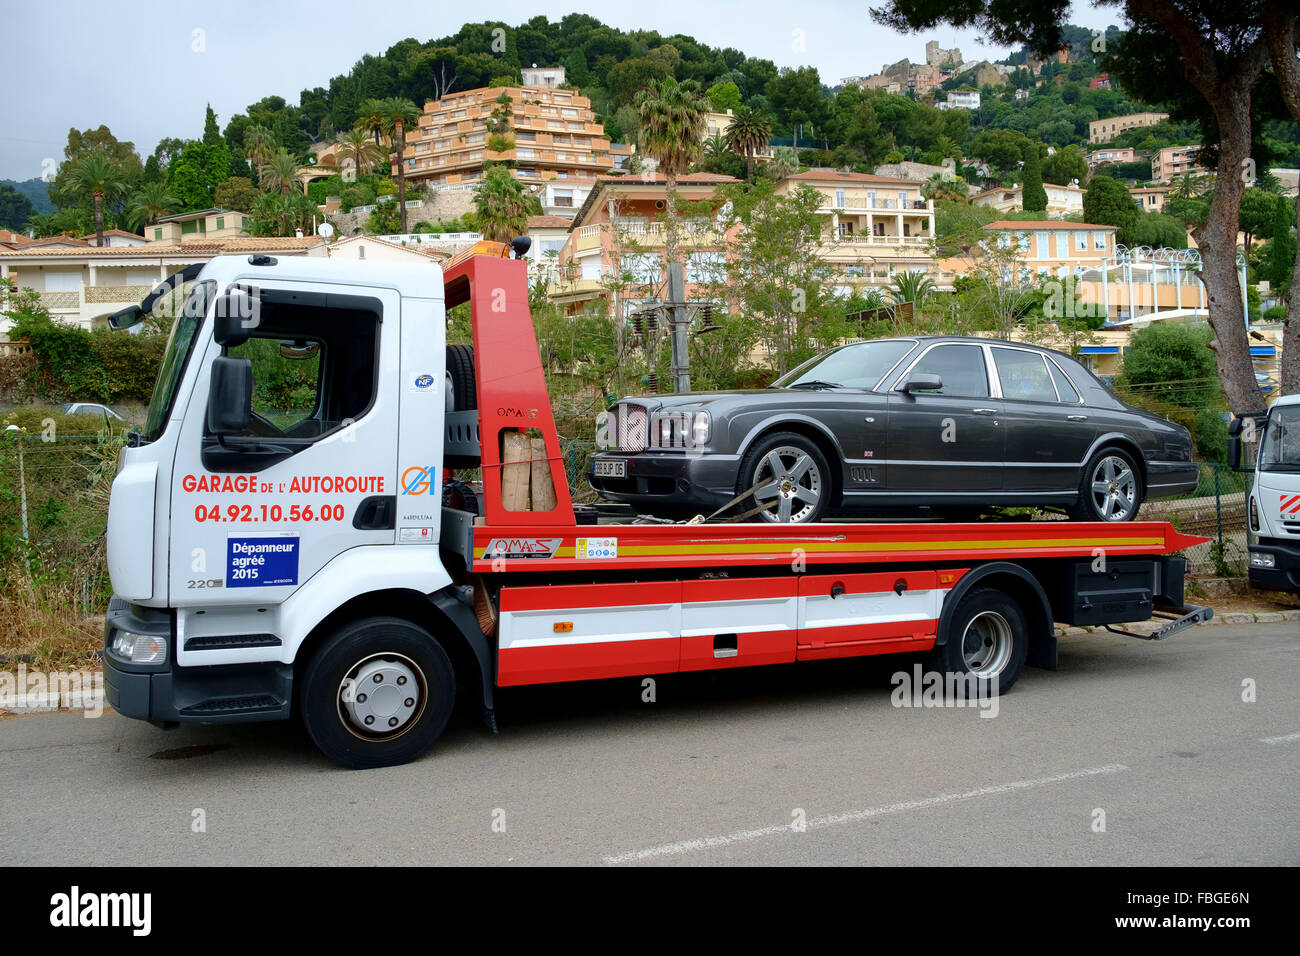
<path id="1" fill-rule="evenodd" d="M 915 375 L 937 375 L 942 388 L 898 392 Z M 992 395 L 983 345 L 944 342 L 922 352 L 889 393 L 890 490 L 970 494 L 1001 488 L 1001 403 Z"/>

